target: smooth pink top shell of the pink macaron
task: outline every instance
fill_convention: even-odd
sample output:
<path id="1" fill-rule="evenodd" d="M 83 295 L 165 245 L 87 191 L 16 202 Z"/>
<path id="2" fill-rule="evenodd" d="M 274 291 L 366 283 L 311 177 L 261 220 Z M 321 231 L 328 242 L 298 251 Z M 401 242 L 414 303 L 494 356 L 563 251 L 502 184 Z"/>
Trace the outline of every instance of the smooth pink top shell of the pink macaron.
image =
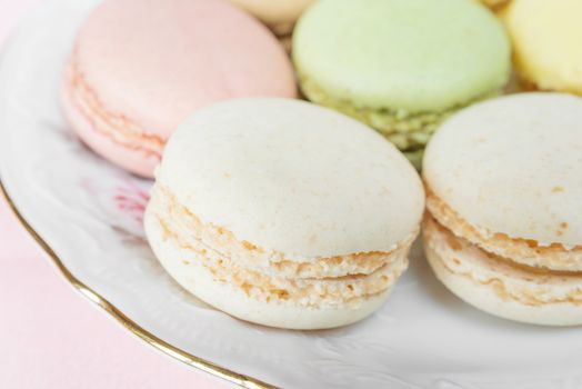
<path id="1" fill-rule="evenodd" d="M 220 100 L 295 94 L 277 39 L 221 0 L 106 1 L 81 28 L 73 61 L 107 110 L 162 137 Z"/>

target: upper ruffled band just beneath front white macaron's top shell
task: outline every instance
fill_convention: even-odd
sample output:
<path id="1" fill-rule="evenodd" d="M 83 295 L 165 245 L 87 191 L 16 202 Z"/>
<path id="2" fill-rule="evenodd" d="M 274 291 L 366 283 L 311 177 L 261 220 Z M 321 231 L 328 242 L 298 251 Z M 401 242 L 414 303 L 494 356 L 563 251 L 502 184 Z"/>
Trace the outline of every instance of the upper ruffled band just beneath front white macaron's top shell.
<path id="1" fill-rule="evenodd" d="M 413 231 L 389 252 L 372 251 L 328 258 L 289 258 L 282 252 L 265 250 L 244 240 L 240 241 L 224 228 L 202 222 L 159 182 L 155 183 L 150 201 L 155 201 L 162 215 L 168 220 L 172 220 L 177 237 L 184 243 L 197 240 L 207 247 L 220 247 L 222 253 L 238 263 L 277 277 L 333 278 L 369 275 L 387 263 L 405 258 L 418 236 L 418 231 Z"/>

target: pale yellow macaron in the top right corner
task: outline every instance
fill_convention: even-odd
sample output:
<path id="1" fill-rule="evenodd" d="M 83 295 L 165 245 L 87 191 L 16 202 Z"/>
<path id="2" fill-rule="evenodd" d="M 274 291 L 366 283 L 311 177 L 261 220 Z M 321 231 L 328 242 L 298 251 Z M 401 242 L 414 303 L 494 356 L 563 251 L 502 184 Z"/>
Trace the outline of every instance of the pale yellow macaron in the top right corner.
<path id="1" fill-rule="evenodd" d="M 514 0 L 502 12 L 528 89 L 582 96 L 582 1 Z"/>

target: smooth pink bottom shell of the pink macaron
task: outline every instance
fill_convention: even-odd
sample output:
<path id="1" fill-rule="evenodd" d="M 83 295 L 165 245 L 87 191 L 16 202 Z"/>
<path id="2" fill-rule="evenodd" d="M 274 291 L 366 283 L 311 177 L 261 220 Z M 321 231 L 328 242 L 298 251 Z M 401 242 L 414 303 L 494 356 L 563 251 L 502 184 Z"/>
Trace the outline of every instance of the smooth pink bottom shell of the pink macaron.
<path id="1" fill-rule="evenodd" d="M 122 146 L 98 132 L 90 118 L 83 116 L 71 101 L 67 86 L 61 89 L 61 109 L 81 140 L 101 157 L 134 174 L 153 177 L 152 172 L 160 162 L 160 157 Z"/>

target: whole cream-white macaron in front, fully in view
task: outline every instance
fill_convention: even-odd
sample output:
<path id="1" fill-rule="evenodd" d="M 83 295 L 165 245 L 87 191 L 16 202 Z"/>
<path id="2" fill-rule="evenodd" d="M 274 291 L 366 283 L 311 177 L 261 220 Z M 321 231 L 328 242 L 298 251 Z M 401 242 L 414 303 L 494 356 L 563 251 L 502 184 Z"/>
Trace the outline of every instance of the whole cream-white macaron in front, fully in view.
<path id="1" fill-rule="evenodd" d="M 171 137 L 144 225 L 171 277 L 233 317 L 322 329 L 371 315 L 408 266 L 424 208 L 407 159 L 305 101 L 250 98 Z"/>

